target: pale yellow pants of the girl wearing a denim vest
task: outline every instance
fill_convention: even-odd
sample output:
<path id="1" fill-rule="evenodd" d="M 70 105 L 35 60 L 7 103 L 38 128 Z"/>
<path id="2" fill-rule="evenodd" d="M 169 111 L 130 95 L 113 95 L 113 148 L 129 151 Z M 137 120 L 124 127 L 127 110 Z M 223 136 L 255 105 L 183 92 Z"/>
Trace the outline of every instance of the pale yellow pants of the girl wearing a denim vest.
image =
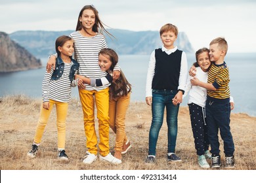
<path id="1" fill-rule="evenodd" d="M 68 103 L 62 103 L 58 101 L 49 100 L 50 108 L 49 110 L 43 108 L 43 104 L 41 106 L 40 117 L 37 122 L 37 129 L 35 130 L 35 137 L 33 142 L 39 144 L 43 137 L 43 131 L 45 130 L 45 126 L 49 120 L 49 116 L 51 114 L 51 110 L 53 109 L 53 105 L 56 106 L 56 116 L 57 116 L 57 129 L 58 129 L 58 148 L 65 149 L 66 142 L 66 116 L 68 112 Z"/>

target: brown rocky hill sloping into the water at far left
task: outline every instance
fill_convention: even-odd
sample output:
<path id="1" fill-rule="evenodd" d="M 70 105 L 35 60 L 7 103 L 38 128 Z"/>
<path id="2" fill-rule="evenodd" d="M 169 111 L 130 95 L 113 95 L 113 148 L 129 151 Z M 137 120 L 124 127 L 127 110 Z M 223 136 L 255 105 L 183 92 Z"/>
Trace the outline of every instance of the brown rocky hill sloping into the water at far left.
<path id="1" fill-rule="evenodd" d="M 41 67 L 41 60 L 0 32 L 0 73 L 24 71 Z"/>

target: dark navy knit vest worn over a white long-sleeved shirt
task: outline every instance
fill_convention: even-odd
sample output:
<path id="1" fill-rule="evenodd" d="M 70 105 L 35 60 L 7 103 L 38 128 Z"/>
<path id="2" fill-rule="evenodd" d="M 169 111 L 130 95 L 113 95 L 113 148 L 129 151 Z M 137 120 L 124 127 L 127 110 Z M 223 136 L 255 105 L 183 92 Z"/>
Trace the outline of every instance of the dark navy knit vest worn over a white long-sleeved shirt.
<path id="1" fill-rule="evenodd" d="M 166 54 L 161 48 L 155 50 L 156 67 L 152 89 L 178 90 L 181 72 L 181 50 Z"/>

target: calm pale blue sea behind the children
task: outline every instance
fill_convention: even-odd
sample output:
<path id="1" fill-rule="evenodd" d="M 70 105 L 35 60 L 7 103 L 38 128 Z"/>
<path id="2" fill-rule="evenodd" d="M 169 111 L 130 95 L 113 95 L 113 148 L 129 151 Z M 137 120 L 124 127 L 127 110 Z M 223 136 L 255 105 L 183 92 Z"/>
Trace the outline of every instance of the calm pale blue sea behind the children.
<path id="1" fill-rule="evenodd" d="M 194 54 L 186 54 L 188 68 L 194 63 Z M 28 71 L 0 73 L 0 97 L 6 95 L 28 95 L 41 97 L 41 84 L 48 58 L 40 58 L 43 67 Z M 149 55 L 119 55 L 119 65 L 127 80 L 132 84 L 131 101 L 145 101 L 146 74 Z M 256 116 L 256 52 L 228 53 L 225 58 L 230 71 L 230 91 L 234 97 L 234 113 Z M 79 99 L 77 88 L 72 88 L 72 97 Z M 187 106 L 185 97 L 181 106 Z M 145 102 L 146 105 L 146 102 Z"/>

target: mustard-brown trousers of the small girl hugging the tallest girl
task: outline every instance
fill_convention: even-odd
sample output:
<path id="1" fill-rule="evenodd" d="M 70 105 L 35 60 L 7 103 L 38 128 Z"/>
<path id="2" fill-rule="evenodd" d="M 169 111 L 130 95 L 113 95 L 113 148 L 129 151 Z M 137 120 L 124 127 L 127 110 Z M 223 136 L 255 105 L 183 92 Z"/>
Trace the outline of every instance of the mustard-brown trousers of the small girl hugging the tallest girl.
<path id="1" fill-rule="evenodd" d="M 110 99 L 110 127 L 116 133 L 115 150 L 122 150 L 127 141 L 125 134 L 125 114 L 130 103 L 131 92 L 127 96 Z"/>

